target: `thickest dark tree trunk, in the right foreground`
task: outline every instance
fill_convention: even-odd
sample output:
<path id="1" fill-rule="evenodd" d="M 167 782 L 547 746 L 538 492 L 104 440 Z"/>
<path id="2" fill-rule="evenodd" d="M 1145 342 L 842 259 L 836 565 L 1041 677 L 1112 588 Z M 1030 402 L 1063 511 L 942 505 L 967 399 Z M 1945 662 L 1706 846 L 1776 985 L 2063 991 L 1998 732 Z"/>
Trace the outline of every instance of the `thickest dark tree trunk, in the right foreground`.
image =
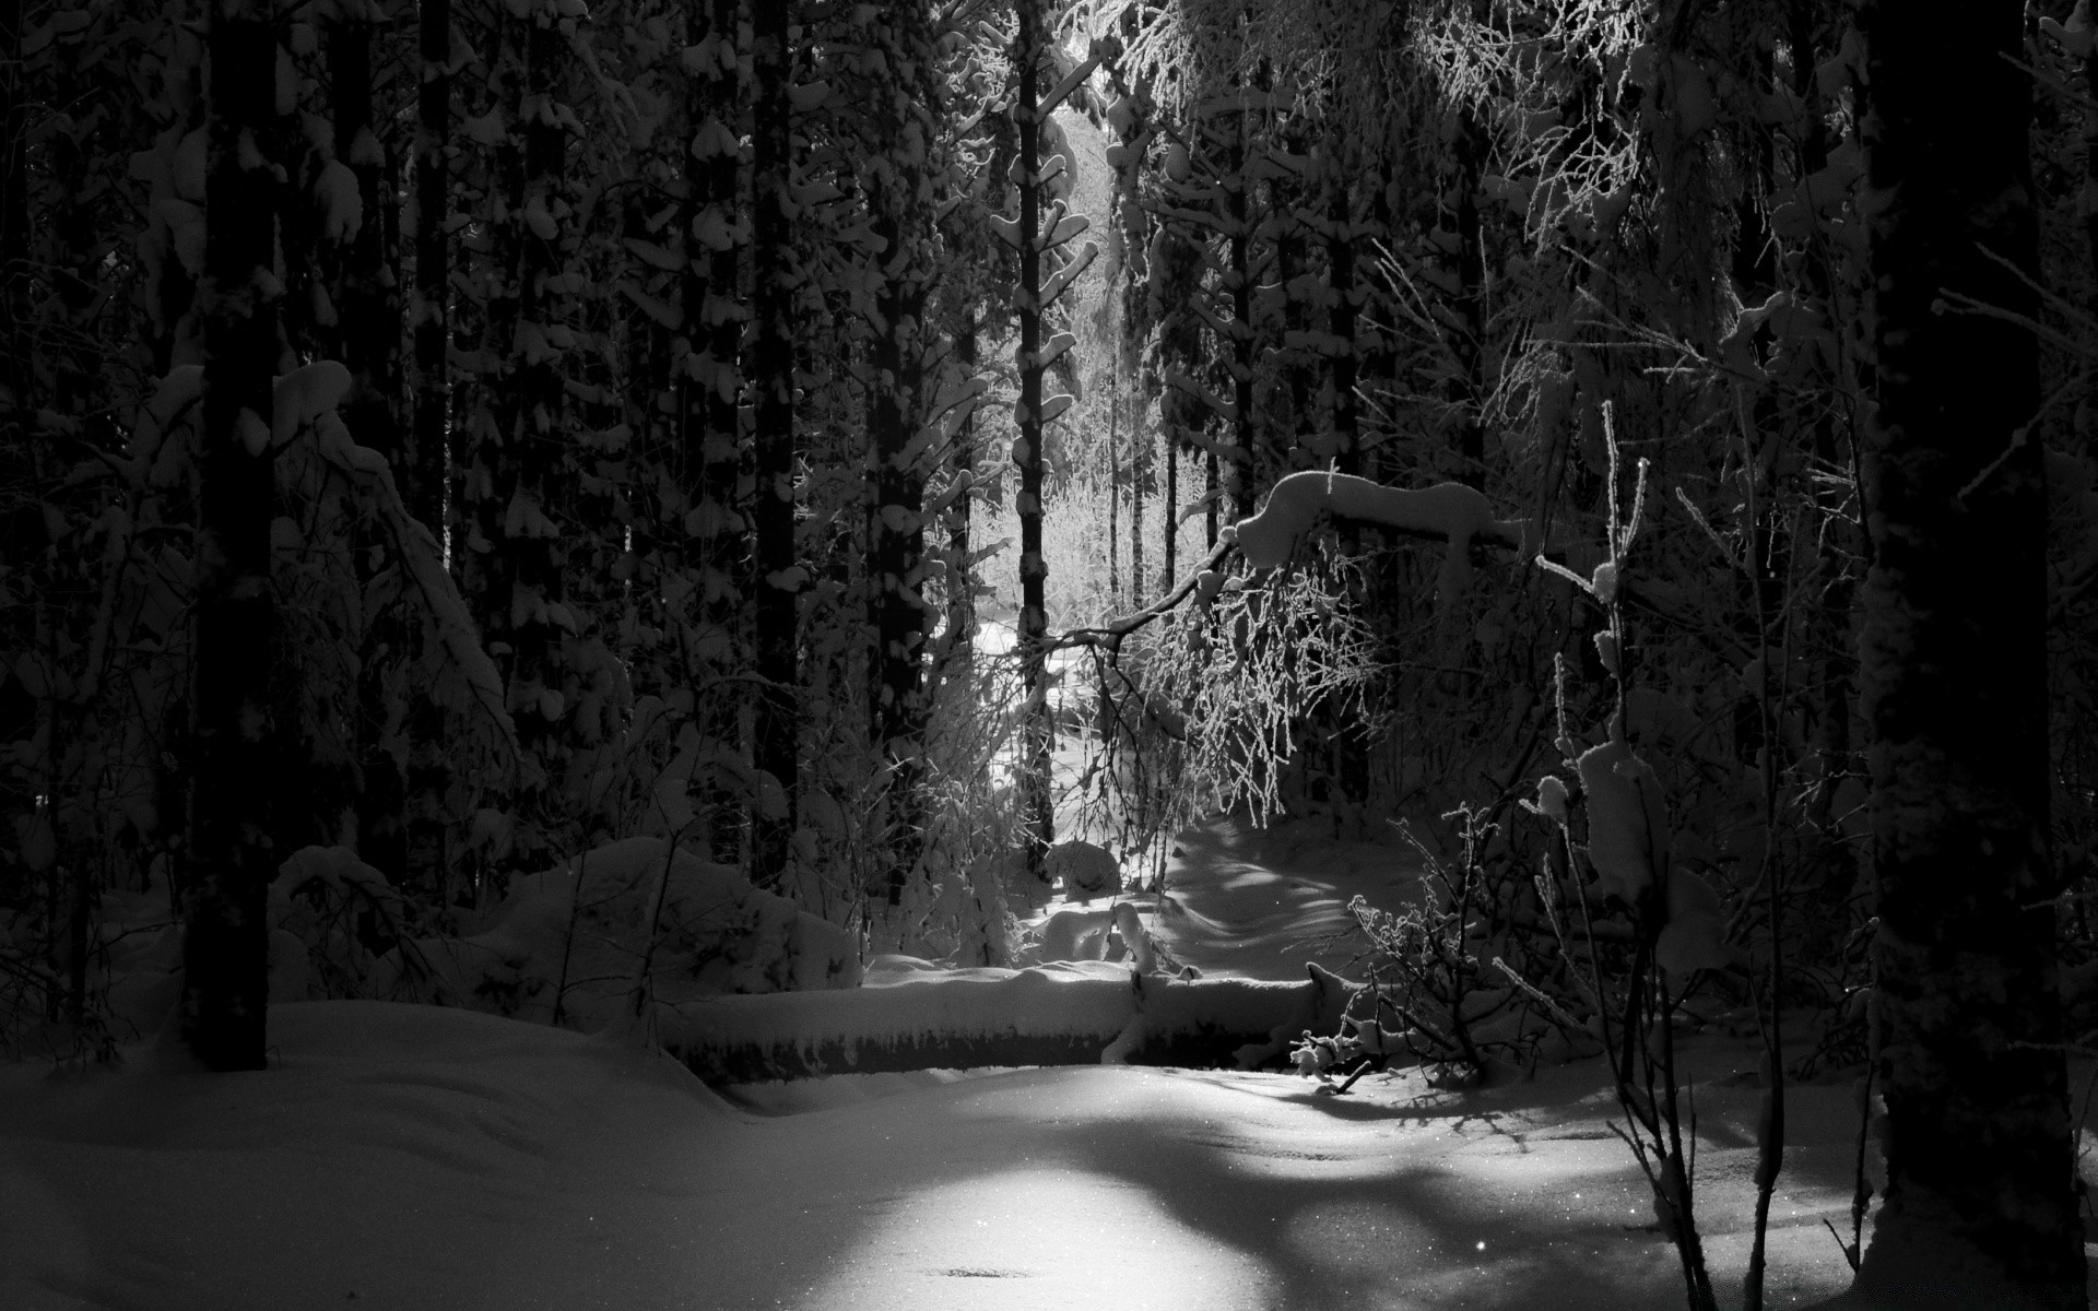
<path id="1" fill-rule="evenodd" d="M 2048 847 L 2022 6 L 1861 6 L 1878 413 L 1861 678 L 1886 1200 L 1874 1307 L 2083 1307 Z M 1947 76 L 1962 78 L 1949 94 Z M 1964 298 L 1993 313 L 1960 313 Z M 1955 304 L 1947 304 L 1953 300 Z"/>

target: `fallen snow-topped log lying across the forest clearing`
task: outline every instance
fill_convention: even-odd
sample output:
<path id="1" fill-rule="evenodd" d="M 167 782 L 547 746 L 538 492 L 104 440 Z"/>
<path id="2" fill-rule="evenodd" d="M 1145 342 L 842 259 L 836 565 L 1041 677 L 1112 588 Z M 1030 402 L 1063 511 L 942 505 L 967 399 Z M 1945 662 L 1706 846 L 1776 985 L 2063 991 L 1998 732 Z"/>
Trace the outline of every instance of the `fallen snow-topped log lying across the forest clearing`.
<path id="1" fill-rule="evenodd" d="M 927 969 L 831 992 L 715 996 L 663 1017 L 665 1051 L 713 1082 L 973 1066 L 1253 1066 L 1332 1032 L 1355 984 L 1179 980 L 1127 965 Z M 881 977 L 875 973 L 873 977 Z"/>

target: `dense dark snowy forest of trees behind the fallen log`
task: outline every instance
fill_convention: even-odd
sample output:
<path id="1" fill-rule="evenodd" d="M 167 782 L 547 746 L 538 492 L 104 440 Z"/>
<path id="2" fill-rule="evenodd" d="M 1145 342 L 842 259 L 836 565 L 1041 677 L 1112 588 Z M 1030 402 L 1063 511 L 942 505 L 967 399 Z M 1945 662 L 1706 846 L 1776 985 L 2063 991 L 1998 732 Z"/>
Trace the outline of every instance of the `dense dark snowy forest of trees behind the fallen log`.
<path id="1" fill-rule="evenodd" d="M 1515 801 L 1613 713 L 1727 940 L 1767 950 L 1737 906 L 1777 881 L 1796 984 L 1863 984 L 1842 6 L 254 21 L 227 59 L 275 94 L 220 176 L 201 15 L 0 10 L 13 1040 L 92 1028 L 103 898 L 180 917 L 185 824 L 229 797 L 277 860 L 384 875 L 365 954 L 673 831 L 877 948 L 1003 961 L 1059 835 L 1135 868 L 1215 803 L 1462 829 L 1527 879 Z M 2081 877 L 2098 73 L 2077 15 L 2033 21 Z M 227 237 L 235 275 L 214 203 L 262 243 Z M 266 533 L 239 776 L 199 768 L 193 671 L 220 283 L 275 359 L 231 506 Z M 1634 466 L 1605 606 L 1576 581 Z M 1280 583 L 1183 587 L 1246 573 L 1213 547 L 1292 470 L 1479 489 L 1578 579 L 1341 524 Z"/>

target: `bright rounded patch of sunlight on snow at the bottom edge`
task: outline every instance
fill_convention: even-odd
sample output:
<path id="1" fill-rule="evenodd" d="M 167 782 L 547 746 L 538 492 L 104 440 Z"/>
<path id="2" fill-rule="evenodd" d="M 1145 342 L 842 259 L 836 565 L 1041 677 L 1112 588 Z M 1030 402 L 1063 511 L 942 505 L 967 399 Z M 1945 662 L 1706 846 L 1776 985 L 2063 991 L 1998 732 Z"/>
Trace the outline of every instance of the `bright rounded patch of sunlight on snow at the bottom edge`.
<path id="1" fill-rule="evenodd" d="M 1175 1221 L 1146 1189 L 1076 1168 L 929 1187 L 887 1210 L 801 1311 L 1202 1311 L 1273 1303 L 1257 1259 Z"/>

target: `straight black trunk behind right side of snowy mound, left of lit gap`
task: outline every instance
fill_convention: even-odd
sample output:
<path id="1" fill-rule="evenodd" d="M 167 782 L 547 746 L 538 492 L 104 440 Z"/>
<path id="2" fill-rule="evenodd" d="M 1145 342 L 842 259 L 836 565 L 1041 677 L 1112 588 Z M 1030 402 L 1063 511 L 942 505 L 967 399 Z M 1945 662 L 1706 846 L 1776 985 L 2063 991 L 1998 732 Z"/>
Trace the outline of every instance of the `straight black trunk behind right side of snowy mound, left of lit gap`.
<path id="1" fill-rule="evenodd" d="M 793 552 L 793 294 L 799 285 L 789 214 L 793 199 L 793 132 L 787 50 L 787 4 L 753 6 L 751 78 L 755 113 L 751 174 L 753 315 L 751 390 L 755 392 L 753 455 L 757 487 L 751 495 L 755 556 L 751 629 L 757 669 L 770 682 L 757 696 L 751 755 L 778 785 L 778 797 L 751 822 L 751 881 L 772 887 L 787 873 L 799 787 L 799 659 L 797 598 L 801 577 Z"/>

